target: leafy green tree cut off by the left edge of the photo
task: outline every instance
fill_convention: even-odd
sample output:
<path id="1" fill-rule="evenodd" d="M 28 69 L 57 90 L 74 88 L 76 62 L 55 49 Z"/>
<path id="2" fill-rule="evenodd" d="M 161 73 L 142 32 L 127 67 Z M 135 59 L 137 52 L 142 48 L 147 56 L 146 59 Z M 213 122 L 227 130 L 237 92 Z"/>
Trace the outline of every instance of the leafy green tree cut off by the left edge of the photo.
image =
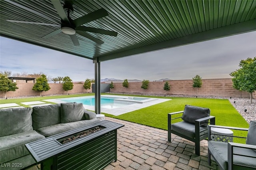
<path id="1" fill-rule="evenodd" d="M 16 86 L 16 83 L 12 83 L 6 75 L 3 75 L 0 73 L 0 91 L 4 91 L 4 98 L 6 98 L 6 92 L 7 91 L 16 91 L 18 87 Z"/>

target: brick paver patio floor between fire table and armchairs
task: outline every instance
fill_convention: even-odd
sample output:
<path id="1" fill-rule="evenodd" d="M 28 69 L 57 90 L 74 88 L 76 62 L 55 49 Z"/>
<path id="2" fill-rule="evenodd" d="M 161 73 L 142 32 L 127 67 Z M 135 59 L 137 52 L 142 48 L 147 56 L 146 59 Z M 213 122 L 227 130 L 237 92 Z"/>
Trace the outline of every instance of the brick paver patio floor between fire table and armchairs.
<path id="1" fill-rule="evenodd" d="M 207 140 L 200 143 L 200 155 L 195 144 L 172 134 L 167 140 L 167 130 L 106 117 L 106 120 L 123 124 L 118 129 L 118 161 L 104 170 L 218 170 L 213 161 L 207 163 Z"/>

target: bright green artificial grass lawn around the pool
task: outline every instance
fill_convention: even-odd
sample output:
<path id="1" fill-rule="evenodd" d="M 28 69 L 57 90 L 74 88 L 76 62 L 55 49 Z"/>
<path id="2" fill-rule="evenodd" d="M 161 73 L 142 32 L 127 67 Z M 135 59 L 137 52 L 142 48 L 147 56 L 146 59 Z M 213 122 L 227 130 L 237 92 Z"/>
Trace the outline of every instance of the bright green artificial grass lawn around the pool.
<path id="1" fill-rule="evenodd" d="M 109 93 L 102 93 L 102 95 Z M 1 104 L 4 103 L 17 103 L 22 105 L 20 102 L 27 101 L 43 101 L 44 99 L 59 99 L 66 97 L 81 97 L 81 96 L 92 96 L 94 93 L 84 93 L 79 95 L 61 95 L 61 96 L 48 96 L 48 97 L 32 97 L 25 99 L 2 99 Z M 117 94 L 114 94 L 117 95 Z M 140 96 L 140 95 L 127 95 L 136 97 L 154 97 L 154 96 Z M 107 113 L 103 113 L 107 117 L 112 117 L 116 119 L 122 119 L 124 121 L 134 122 L 141 125 L 146 125 L 150 127 L 160 128 L 168 130 L 167 128 L 167 117 L 168 113 L 182 111 L 185 105 L 194 105 L 199 107 L 207 107 L 211 110 L 211 116 L 215 116 L 216 125 L 230 126 L 230 127 L 244 127 L 248 128 L 248 123 L 244 118 L 236 111 L 236 109 L 230 104 L 228 99 L 201 99 L 201 98 L 184 98 L 184 97 L 156 97 L 172 99 L 163 103 L 159 103 L 150 107 L 132 111 L 120 116 L 114 116 Z M 43 101 L 46 103 L 51 103 Z M 24 106 L 24 105 L 23 105 Z M 176 115 L 181 116 L 181 114 Z M 172 123 L 180 121 L 175 119 Z M 246 136 L 247 132 L 244 131 L 234 131 L 236 136 Z M 234 140 L 237 141 L 237 140 Z M 241 142 L 241 140 L 239 140 Z M 245 140 L 242 140 L 244 143 Z M 238 142 L 238 141 L 237 141 Z"/>

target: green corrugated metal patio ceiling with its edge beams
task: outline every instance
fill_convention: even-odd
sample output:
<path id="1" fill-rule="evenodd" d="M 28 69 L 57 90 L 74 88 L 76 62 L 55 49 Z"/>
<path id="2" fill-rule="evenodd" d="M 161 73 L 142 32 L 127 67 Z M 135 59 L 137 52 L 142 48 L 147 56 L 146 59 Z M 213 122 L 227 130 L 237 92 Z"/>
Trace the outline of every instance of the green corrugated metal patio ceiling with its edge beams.
<path id="1" fill-rule="evenodd" d="M 64 0 L 60 2 L 65 3 Z M 256 30 L 256 0 L 74 0 L 72 3 L 72 20 L 104 8 L 108 16 L 84 26 L 118 32 L 118 36 L 88 32 L 104 43 L 97 44 L 77 35 L 80 45 L 75 46 L 64 33 L 42 38 L 58 29 L 56 26 L 7 21 L 58 24 L 60 17 L 49 0 L 1 0 L 0 34 L 105 61 Z"/>

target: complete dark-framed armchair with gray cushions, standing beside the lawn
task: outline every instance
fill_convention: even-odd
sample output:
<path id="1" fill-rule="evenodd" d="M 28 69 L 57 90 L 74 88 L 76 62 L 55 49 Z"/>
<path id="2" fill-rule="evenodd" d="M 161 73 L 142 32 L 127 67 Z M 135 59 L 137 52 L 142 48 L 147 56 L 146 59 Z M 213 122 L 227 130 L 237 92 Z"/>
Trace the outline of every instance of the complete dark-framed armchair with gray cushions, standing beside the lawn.
<path id="1" fill-rule="evenodd" d="M 182 113 L 181 117 L 174 115 Z M 173 123 L 172 120 L 181 118 L 183 121 Z M 210 109 L 185 105 L 184 111 L 168 113 L 168 141 L 171 134 L 195 142 L 195 152 L 200 155 L 200 141 L 208 137 L 208 123 L 215 125 L 215 117 L 210 116 Z"/>

